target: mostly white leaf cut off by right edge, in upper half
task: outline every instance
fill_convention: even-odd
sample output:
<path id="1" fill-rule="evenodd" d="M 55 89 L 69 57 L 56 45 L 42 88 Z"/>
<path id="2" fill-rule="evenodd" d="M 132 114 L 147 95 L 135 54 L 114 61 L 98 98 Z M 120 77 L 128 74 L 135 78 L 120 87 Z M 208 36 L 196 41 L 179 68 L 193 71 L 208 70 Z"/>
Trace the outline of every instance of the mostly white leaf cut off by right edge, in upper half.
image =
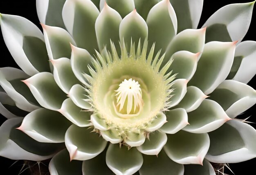
<path id="1" fill-rule="evenodd" d="M 227 79 L 247 84 L 256 74 L 256 42 L 244 41 L 236 47 L 234 63 Z"/>

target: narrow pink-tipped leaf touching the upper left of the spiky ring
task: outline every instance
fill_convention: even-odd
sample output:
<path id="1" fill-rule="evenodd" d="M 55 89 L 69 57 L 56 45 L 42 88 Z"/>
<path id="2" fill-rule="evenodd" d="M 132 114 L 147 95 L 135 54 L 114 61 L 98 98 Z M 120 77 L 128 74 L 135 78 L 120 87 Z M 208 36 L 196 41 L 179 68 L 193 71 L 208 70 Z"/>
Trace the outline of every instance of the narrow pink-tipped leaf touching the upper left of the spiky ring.
<path id="1" fill-rule="evenodd" d="M 87 84 L 85 76 L 83 74 L 90 74 L 88 65 L 92 65 L 92 56 L 85 49 L 81 49 L 71 45 L 71 68 L 79 81 L 83 84 Z"/>

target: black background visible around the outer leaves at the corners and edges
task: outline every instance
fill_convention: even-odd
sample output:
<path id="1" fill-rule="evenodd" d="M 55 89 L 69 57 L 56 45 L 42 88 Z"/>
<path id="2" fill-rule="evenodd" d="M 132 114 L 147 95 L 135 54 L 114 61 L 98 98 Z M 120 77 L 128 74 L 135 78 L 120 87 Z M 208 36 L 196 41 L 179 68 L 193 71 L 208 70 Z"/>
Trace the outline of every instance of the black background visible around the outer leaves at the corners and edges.
<path id="1" fill-rule="evenodd" d="M 231 3 L 243 3 L 243 2 L 251 2 L 251 0 L 204 0 L 204 7 L 202 11 L 202 17 L 199 23 L 198 28 L 200 28 L 204 22 L 220 7 L 223 7 L 227 4 Z M 29 20 L 31 20 L 34 24 L 36 24 L 40 29 L 41 26 L 39 24 L 39 20 L 36 14 L 36 0 L 0 0 L 0 13 L 12 14 L 23 16 Z M 254 7 L 254 12 L 252 16 L 251 26 L 244 40 L 256 40 L 256 7 Z M 7 47 L 4 45 L 4 41 L 2 38 L 2 34 L 0 32 L 0 67 L 18 67 L 18 65 L 14 62 L 11 54 L 9 53 Z M 256 59 L 256 58 L 255 58 Z M 256 76 L 248 83 L 254 89 L 256 89 Z M 248 121 L 256 122 L 256 105 L 247 110 L 245 114 L 241 116 L 241 118 L 250 117 Z M 4 117 L 0 116 L 0 123 L 5 120 Z M 256 128 L 256 124 L 251 124 L 254 128 Z M 0 133 L 1 134 L 1 133 Z M 18 175 L 22 162 L 19 161 L 13 166 L 13 160 L 9 160 L 3 157 L 0 157 L 0 174 L 3 175 Z M 237 164 L 230 164 L 232 171 L 236 175 L 253 175 L 256 174 L 255 171 L 256 158 L 242 162 Z M 11 166 L 11 168 L 9 168 Z M 8 173 L 4 173 L 8 172 Z M 231 172 L 226 171 L 228 174 L 232 174 Z M 21 175 L 26 175 L 27 172 L 21 173 Z"/>

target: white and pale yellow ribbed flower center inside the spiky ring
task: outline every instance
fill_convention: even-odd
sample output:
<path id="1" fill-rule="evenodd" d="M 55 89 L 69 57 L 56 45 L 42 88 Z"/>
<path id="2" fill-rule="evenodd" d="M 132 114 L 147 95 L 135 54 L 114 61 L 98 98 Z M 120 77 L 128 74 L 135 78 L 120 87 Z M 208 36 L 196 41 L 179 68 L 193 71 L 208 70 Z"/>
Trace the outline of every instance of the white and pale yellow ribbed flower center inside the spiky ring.
<path id="1" fill-rule="evenodd" d="M 117 92 L 117 109 L 123 114 L 135 114 L 142 105 L 142 92 L 138 81 L 129 79 L 119 84 Z"/>

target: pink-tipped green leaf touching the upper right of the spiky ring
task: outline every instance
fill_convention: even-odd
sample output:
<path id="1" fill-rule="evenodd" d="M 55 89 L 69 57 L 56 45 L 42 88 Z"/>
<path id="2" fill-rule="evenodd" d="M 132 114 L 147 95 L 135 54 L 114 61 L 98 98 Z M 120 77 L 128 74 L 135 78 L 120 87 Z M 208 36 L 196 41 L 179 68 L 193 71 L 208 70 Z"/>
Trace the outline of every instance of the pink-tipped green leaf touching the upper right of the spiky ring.
<path id="1" fill-rule="evenodd" d="M 195 74 L 200 53 L 194 54 L 189 51 L 179 51 L 173 54 L 173 62 L 166 72 L 177 74 L 175 79 L 190 80 Z"/>

